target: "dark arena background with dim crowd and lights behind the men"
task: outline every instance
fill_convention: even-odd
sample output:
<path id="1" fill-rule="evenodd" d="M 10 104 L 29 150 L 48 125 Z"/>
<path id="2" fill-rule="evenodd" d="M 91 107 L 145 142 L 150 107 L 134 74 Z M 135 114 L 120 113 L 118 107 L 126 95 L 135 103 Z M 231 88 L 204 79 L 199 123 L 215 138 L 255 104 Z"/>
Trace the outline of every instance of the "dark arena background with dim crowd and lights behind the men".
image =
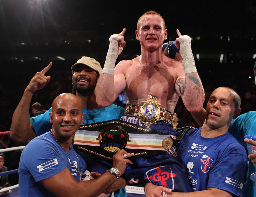
<path id="1" fill-rule="evenodd" d="M 165 42 L 175 41 L 176 29 L 192 38 L 205 104 L 215 88 L 228 86 L 241 96 L 241 114 L 256 110 L 252 72 L 256 60 L 256 1 L 0 0 L 0 131 L 10 131 L 23 91 L 49 62 L 53 62 L 47 72 L 51 80 L 31 101 L 41 103 L 43 110 L 51 107 L 57 95 L 71 92 L 71 66 L 82 56 L 95 58 L 103 67 L 110 35 L 120 33 L 123 27 L 126 46 L 116 63 L 140 55 L 136 25 L 138 18 L 151 9 L 165 19 Z M 125 106 L 119 99 L 114 104 Z M 196 124 L 181 99 L 174 112 L 180 119 L 178 126 Z M 8 147 L 25 144 L 11 140 L 9 135 L 1 137 L 2 142 Z M 9 170 L 18 168 L 13 154 L 15 151 L 6 153 Z M 18 183 L 18 175 L 9 176 L 10 185 Z"/>

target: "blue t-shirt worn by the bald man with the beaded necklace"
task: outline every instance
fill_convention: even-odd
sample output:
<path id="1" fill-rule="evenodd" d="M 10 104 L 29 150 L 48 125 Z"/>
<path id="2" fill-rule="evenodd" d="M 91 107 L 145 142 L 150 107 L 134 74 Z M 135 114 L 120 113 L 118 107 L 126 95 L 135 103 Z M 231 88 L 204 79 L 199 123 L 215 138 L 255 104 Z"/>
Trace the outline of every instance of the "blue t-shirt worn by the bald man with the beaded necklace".
<path id="1" fill-rule="evenodd" d="M 70 145 L 72 147 L 72 144 Z M 43 148 L 42 148 L 43 147 Z M 77 154 L 84 172 L 87 165 Z M 19 162 L 19 196 L 53 196 L 40 181 L 68 168 L 80 182 L 79 161 L 73 150 L 67 151 L 55 141 L 50 132 L 31 140 L 21 153 Z"/>

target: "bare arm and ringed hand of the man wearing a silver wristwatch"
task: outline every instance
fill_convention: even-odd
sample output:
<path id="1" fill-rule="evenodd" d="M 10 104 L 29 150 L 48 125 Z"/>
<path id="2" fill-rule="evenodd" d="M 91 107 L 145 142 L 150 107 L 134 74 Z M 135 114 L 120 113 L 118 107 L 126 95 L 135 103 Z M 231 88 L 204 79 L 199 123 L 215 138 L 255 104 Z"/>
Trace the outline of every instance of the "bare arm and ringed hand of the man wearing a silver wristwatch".
<path id="1" fill-rule="evenodd" d="M 125 171 L 127 163 L 132 164 L 129 159 L 124 159 L 123 154 L 126 154 L 127 158 L 134 155 L 134 153 L 120 150 L 113 156 L 113 167 L 118 168 L 120 175 Z M 98 196 L 116 180 L 115 175 L 106 172 L 97 179 L 77 182 L 70 171 L 65 168 L 61 172 L 41 180 L 40 183 L 55 196 Z"/>

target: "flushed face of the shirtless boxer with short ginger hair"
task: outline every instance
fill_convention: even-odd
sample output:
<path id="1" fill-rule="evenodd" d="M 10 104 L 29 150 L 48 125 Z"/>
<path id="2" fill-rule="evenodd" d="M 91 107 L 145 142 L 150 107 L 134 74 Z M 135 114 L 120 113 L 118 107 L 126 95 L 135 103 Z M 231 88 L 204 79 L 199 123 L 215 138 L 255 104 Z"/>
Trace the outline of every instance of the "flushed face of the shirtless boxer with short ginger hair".
<path id="1" fill-rule="evenodd" d="M 155 14 L 147 14 L 139 21 L 139 29 L 135 31 L 136 38 L 147 51 L 153 52 L 162 47 L 167 38 L 167 29 L 163 19 Z"/>

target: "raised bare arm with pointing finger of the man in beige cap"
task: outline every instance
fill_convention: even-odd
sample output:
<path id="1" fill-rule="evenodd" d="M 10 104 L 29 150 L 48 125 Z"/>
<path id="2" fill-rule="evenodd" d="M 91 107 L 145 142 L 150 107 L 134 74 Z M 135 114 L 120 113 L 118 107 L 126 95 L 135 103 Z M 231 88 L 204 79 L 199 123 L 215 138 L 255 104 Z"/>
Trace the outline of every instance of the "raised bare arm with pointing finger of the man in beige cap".
<path id="1" fill-rule="evenodd" d="M 45 73 L 50 69 L 52 62 L 49 63 L 41 72 L 35 74 L 35 76 L 29 82 L 26 87 L 21 101 L 14 111 L 11 128 L 10 138 L 17 141 L 27 141 L 36 137 L 35 132 L 32 129 L 30 123 L 29 108 L 32 96 L 36 90 L 42 89 L 49 81 L 50 76 L 45 76 Z"/>

